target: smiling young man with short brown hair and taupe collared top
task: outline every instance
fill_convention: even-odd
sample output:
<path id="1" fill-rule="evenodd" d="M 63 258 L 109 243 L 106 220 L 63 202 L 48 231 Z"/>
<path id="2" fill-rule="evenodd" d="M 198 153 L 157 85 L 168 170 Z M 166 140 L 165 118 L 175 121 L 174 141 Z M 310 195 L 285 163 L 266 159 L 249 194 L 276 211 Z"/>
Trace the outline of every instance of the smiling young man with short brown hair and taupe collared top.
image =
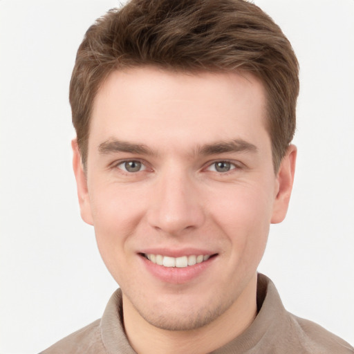
<path id="1" fill-rule="evenodd" d="M 257 274 L 290 200 L 298 92 L 290 43 L 252 3 L 136 0 L 88 29 L 73 167 L 121 290 L 44 353 L 353 353 Z"/>

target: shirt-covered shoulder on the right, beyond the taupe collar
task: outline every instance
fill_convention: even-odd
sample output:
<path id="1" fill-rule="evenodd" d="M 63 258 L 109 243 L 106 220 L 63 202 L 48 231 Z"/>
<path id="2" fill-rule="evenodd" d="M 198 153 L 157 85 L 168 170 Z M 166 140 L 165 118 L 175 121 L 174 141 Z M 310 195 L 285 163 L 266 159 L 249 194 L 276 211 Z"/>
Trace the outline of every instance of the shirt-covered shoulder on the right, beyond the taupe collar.
<path id="1" fill-rule="evenodd" d="M 344 339 L 330 333 L 315 322 L 292 314 L 289 315 L 292 326 L 296 327 L 294 332 L 297 333 L 297 339 L 301 343 L 301 347 L 304 348 L 304 353 L 354 354 L 353 346 L 345 342 Z"/>

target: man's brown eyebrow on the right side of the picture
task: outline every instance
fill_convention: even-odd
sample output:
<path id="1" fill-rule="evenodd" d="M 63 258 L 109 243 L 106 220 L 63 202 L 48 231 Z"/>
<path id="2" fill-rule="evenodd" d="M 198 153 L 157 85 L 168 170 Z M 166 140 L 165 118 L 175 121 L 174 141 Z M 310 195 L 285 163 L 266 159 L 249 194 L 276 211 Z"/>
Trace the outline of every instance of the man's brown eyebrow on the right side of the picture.
<path id="1" fill-rule="evenodd" d="M 197 153 L 201 155 L 214 155 L 216 153 L 227 152 L 257 152 L 256 145 L 251 144 L 243 139 L 234 139 L 231 141 L 220 141 L 213 144 L 203 145 L 197 149 Z"/>

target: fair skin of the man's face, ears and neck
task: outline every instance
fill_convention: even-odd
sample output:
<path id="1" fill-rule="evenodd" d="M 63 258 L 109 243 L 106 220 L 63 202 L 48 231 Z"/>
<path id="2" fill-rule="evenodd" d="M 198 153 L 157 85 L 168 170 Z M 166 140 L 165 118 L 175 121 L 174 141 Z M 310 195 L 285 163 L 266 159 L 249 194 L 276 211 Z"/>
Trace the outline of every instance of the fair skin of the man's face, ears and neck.
<path id="1" fill-rule="evenodd" d="M 291 145 L 274 174 L 265 120 L 263 85 L 248 73 L 133 68 L 97 93 L 86 171 L 75 140 L 73 167 L 138 353 L 207 353 L 252 324 L 257 266 L 270 223 L 286 215 L 296 159 Z M 162 280 L 146 250 L 214 256 L 190 279 L 174 268 Z"/>

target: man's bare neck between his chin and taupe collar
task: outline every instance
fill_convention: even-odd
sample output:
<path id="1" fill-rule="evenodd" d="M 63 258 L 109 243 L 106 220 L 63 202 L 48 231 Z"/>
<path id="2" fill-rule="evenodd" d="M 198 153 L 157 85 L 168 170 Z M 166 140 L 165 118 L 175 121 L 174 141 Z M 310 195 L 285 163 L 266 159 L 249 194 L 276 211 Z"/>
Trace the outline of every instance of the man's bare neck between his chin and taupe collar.
<path id="1" fill-rule="evenodd" d="M 243 333 L 257 315 L 257 274 L 225 313 L 194 330 L 164 330 L 143 319 L 123 295 L 124 328 L 139 354 L 205 354 Z"/>

